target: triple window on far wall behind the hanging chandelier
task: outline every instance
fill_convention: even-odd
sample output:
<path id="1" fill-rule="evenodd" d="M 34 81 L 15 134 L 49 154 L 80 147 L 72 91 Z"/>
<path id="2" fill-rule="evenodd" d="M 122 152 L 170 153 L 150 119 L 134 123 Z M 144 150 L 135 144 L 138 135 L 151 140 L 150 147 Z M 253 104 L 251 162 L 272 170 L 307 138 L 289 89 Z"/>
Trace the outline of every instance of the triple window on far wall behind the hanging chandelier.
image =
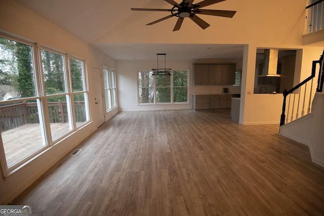
<path id="1" fill-rule="evenodd" d="M 138 103 L 188 103 L 188 74 L 173 70 L 171 75 L 153 76 L 150 70 L 138 70 Z"/>

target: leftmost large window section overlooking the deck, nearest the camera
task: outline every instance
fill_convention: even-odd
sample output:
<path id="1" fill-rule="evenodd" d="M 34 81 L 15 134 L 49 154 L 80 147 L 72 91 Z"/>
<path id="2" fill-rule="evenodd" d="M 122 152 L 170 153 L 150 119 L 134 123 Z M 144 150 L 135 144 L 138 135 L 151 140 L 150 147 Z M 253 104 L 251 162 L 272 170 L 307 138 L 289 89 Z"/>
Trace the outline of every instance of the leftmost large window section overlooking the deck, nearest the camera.
<path id="1" fill-rule="evenodd" d="M 34 45 L 0 37 L 0 149 L 5 170 L 47 146 L 35 52 Z"/>

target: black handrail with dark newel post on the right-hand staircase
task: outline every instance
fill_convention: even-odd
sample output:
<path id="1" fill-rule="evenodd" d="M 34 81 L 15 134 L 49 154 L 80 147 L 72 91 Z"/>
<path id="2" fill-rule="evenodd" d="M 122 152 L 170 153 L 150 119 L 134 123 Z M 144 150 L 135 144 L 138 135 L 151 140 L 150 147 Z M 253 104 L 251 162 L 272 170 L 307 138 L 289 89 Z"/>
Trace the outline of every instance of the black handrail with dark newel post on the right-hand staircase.
<path id="1" fill-rule="evenodd" d="M 323 0 L 324 1 L 324 0 Z M 317 80 L 317 89 L 316 92 L 321 92 L 322 88 L 323 88 L 323 82 L 324 82 L 324 74 L 323 74 L 323 58 L 324 58 L 324 50 L 323 50 L 323 54 L 321 55 L 321 57 L 319 58 L 319 60 L 317 61 L 313 61 L 312 63 L 312 73 L 309 77 L 307 77 L 305 80 L 303 80 L 302 82 L 300 82 L 299 84 L 297 84 L 295 87 L 293 87 L 291 90 L 287 91 L 286 89 L 284 90 L 284 92 L 282 93 L 282 95 L 284 96 L 284 102 L 282 103 L 282 112 L 281 112 L 281 116 L 280 116 L 280 126 L 285 124 L 285 119 L 286 119 L 286 99 L 287 96 L 291 93 L 293 93 L 295 90 L 299 89 L 300 87 L 302 87 L 302 85 L 306 84 L 309 80 L 311 80 L 312 78 L 315 77 L 315 73 L 316 73 L 316 64 L 319 64 L 319 74 L 318 74 L 318 80 Z M 305 92 L 306 92 L 306 87 L 305 87 Z M 310 92 L 311 94 L 311 92 Z M 297 113 L 298 115 L 298 113 Z"/>

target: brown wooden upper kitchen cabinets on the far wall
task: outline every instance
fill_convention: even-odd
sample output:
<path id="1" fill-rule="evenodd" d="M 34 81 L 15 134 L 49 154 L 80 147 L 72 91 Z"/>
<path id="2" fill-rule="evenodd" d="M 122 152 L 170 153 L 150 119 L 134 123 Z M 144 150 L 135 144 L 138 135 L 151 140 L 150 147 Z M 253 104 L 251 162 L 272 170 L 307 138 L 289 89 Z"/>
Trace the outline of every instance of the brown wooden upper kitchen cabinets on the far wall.
<path id="1" fill-rule="evenodd" d="M 235 64 L 194 64 L 194 85 L 232 85 L 235 83 Z"/>

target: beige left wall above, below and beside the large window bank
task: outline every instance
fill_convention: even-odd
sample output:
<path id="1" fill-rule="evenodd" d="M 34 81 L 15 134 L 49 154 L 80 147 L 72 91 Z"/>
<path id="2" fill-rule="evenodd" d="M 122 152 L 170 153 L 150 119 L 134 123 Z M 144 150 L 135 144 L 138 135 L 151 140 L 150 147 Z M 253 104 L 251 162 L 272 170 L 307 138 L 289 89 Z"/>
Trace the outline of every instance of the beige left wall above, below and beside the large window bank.
<path id="1" fill-rule="evenodd" d="M 16 36 L 37 42 L 37 44 L 53 47 L 86 60 L 90 110 L 92 119 L 95 119 L 94 94 L 97 87 L 93 85 L 91 68 L 102 68 L 103 64 L 115 67 L 114 60 L 14 1 L 0 1 L 0 14 L 0 29 L 2 31 L 10 32 Z M 28 161 L 25 166 L 16 170 L 6 180 L 1 179 L 0 203 L 6 204 L 15 198 L 95 129 L 96 123 L 91 122 L 60 143 L 47 149 L 38 157 Z"/>

